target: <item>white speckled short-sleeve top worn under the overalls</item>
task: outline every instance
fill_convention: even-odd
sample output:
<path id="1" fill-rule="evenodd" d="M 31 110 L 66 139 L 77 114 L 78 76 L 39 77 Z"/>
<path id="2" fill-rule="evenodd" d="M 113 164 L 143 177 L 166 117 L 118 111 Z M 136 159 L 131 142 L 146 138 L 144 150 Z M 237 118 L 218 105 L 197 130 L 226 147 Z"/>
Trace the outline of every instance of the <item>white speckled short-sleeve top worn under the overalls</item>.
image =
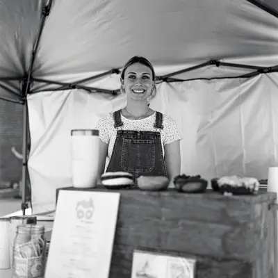
<path id="1" fill-rule="evenodd" d="M 161 133 L 161 145 L 164 154 L 164 146 L 176 140 L 181 140 L 181 134 L 177 129 L 177 124 L 172 117 L 163 114 L 163 129 L 156 129 L 154 123 L 156 122 L 156 113 L 142 120 L 129 120 L 121 114 L 123 126 L 120 129 L 130 131 L 158 131 Z M 99 138 L 102 142 L 108 144 L 108 159 L 110 160 L 115 140 L 117 137 L 117 129 L 114 126 L 113 113 L 102 117 L 97 123 L 96 129 L 99 129 Z"/>

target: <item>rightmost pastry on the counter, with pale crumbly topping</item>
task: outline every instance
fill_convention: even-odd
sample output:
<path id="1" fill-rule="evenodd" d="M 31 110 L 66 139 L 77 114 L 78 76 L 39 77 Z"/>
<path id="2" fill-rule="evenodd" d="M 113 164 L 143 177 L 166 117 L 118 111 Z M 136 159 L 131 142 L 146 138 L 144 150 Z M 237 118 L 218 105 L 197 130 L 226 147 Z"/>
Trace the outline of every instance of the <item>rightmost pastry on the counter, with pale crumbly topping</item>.
<path id="1" fill-rule="evenodd" d="M 217 179 L 220 193 L 224 195 L 256 194 L 259 181 L 252 177 L 225 176 Z"/>

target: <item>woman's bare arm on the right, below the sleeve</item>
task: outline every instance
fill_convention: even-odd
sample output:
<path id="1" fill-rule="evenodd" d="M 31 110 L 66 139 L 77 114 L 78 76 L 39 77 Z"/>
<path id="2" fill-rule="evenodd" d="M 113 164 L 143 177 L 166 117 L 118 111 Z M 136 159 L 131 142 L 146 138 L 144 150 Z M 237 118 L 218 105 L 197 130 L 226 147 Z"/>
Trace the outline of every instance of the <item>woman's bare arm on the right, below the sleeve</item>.
<path id="1" fill-rule="evenodd" d="M 174 177 L 181 174 L 181 151 L 179 140 L 166 144 L 165 149 L 165 165 L 168 178 L 170 179 L 170 187 Z"/>

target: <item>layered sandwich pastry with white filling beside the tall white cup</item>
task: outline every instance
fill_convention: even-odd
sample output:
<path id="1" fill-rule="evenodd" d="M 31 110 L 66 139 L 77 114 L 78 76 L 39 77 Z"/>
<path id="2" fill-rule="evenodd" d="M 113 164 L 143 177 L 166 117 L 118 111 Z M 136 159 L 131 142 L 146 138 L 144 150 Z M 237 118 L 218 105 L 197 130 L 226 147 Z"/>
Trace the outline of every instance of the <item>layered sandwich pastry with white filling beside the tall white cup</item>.
<path id="1" fill-rule="evenodd" d="M 106 172 L 101 175 L 101 183 L 109 189 L 130 188 L 133 175 L 128 172 Z"/>

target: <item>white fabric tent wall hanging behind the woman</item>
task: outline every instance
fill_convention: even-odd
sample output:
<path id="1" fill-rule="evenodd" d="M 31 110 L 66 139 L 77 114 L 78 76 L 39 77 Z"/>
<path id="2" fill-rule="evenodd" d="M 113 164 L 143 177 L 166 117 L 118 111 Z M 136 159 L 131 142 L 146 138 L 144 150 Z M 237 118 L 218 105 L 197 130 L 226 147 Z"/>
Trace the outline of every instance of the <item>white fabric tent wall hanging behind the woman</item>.
<path id="1" fill-rule="evenodd" d="M 252 79 L 161 83 L 151 107 L 170 115 L 182 133 L 181 172 L 206 179 L 224 174 L 267 177 L 278 164 L 278 74 Z M 72 186 L 70 131 L 95 128 L 125 96 L 83 90 L 28 97 L 33 212 L 55 209 L 56 188 Z"/>

